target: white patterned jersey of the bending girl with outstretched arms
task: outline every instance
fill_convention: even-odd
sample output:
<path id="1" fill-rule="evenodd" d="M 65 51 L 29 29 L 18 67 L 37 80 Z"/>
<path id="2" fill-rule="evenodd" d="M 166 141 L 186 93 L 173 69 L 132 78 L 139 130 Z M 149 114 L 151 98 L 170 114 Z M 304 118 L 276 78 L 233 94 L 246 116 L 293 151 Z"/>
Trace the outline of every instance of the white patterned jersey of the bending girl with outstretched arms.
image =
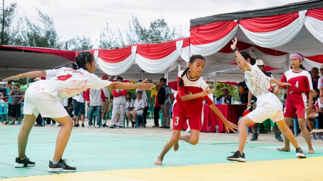
<path id="1" fill-rule="evenodd" d="M 72 97 L 89 88 L 99 90 L 111 84 L 110 81 L 102 80 L 82 68 L 74 70 L 62 67 L 46 70 L 46 77 L 48 78 L 46 81 L 51 81 L 55 85 L 60 98 Z"/>

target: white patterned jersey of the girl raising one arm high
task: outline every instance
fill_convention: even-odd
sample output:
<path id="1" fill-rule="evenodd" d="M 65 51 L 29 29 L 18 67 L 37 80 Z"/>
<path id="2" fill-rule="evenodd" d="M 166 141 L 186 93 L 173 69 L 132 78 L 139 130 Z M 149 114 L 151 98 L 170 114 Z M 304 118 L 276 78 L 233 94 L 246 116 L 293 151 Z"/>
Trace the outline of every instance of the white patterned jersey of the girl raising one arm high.
<path id="1" fill-rule="evenodd" d="M 254 96 L 268 93 L 272 90 L 270 84 L 271 77 L 266 76 L 258 66 L 249 64 L 250 71 L 246 70 L 244 74 L 244 81 L 248 89 Z"/>

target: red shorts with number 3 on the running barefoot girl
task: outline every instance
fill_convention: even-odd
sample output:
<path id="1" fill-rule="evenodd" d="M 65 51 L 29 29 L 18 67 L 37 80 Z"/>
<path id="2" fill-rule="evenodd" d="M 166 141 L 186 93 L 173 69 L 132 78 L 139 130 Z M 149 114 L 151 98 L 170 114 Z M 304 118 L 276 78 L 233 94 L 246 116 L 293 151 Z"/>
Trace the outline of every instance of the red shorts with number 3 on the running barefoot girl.
<path id="1" fill-rule="evenodd" d="M 201 131 L 203 121 L 203 103 L 187 104 L 177 102 L 173 104 L 173 130 L 181 130 L 188 120 L 190 129 Z"/>

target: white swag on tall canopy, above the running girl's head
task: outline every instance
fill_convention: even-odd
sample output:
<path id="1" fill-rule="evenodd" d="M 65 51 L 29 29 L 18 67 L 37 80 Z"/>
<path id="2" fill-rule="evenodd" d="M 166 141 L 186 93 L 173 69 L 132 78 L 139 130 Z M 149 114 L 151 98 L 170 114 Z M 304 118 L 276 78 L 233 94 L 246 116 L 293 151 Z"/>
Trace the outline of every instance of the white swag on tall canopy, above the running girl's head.
<path id="1" fill-rule="evenodd" d="M 200 54 L 202 56 L 212 55 L 219 50 L 221 50 L 236 34 L 238 30 L 238 25 L 225 37 L 221 38 L 216 42 L 212 42 L 204 45 L 190 45 L 191 47 L 191 55 Z"/>

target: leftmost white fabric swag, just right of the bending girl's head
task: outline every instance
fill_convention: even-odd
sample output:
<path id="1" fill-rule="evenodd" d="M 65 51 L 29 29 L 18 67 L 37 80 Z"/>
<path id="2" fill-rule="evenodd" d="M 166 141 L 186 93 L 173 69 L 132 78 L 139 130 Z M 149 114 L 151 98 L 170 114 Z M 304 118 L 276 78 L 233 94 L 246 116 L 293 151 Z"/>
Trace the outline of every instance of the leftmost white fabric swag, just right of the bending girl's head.
<path id="1" fill-rule="evenodd" d="M 131 55 L 129 55 L 129 57 L 127 57 L 125 60 L 119 61 L 117 63 L 109 63 L 103 61 L 100 57 L 97 58 L 97 62 L 104 73 L 108 75 L 120 75 L 126 72 L 133 64 L 136 57 L 136 51 L 137 46 L 132 46 Z"/>

